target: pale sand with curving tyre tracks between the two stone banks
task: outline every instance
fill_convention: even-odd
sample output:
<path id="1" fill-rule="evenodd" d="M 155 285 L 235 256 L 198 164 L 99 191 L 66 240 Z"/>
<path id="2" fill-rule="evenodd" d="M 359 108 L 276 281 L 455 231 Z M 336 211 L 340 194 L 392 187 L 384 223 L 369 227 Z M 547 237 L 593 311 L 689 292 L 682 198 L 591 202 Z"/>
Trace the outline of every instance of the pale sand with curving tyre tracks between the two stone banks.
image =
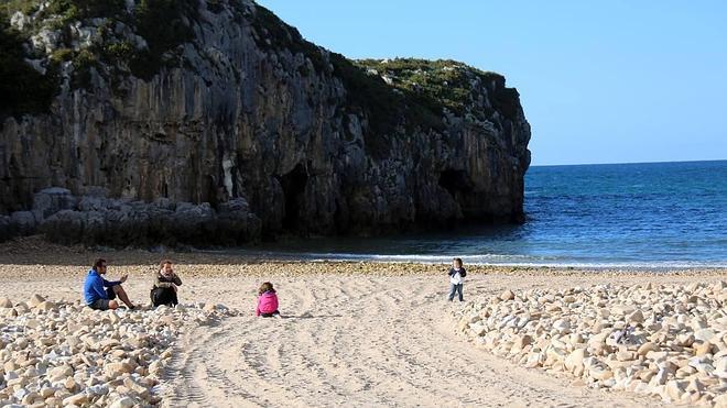
<path id="1" fill-rule="evenodd" d="M 473 291 L 487 293 L 477 280 Z M 171 406 L 659 405 L 569 387 L 476 349 L 456 335 L 459 305 L 431 276 L 303 276 L 276 287 L 286 318 L 242 316 L 187 334 L 166 378 Z M 228 290 L 220 301 L 245 308 L 239 287 Z"/>

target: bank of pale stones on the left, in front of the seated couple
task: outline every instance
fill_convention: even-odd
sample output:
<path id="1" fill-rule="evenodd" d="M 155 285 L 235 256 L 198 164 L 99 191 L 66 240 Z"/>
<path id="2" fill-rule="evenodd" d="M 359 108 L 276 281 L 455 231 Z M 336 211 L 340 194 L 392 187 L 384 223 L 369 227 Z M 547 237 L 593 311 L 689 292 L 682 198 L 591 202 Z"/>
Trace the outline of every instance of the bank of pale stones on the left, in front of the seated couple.
<path id="1" fill-rule="evenodd" d="M 0 312 L 0 406 L 160 404 L 151 389 L 181 331 L 238 313 L 209 305 L 99 312 L 40 295 L 0 298 L 13 311 Z"/>

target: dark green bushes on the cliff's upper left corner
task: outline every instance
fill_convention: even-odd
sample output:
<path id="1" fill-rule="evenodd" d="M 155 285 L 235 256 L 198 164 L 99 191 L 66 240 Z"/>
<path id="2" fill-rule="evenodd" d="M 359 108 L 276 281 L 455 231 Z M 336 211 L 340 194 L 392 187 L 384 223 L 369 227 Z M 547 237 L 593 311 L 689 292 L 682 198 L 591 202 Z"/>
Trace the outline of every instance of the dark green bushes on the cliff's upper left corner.
<path id="1" fill-rule="evenodd" d="M 56 31 L 62 47 L 55 49 L 48 59 L 52 63 L 70 62 L 74 67 L 72 86 L 77 88 L 88 87 L 93 68 L 115 85 L 128 71 L 150 79 L 162 66 L 178 65 L 177 59 L 165 53 L 194 37 L 191 22 L 197 15 L 197 1 L 140 0 L 133 9 L 127 10 L 124 0 L 50 0 L 43 7 L 39 0 L 11 0 L 0 4 L 4 29 L 9 27 L 10 16 L 18 11 L 32 15 L 32 19 L 22 33 L 13 32 L 15 48 L 22 51 L 22 43 L 42 31 Z M 87 47 L 73 47 L 72 25 L 91 19 L 90 26 L 98 29 L 99 35 Z M 115 33 L 117 22 L 131 27 L 147 46 L 139 48 L 118 38 Z M 24 56 L 29 57 L 26 54 Z M 107 69 L 100 69 L 101 65 Z M 23 108 L 18 111 L 31 112 Z"/>

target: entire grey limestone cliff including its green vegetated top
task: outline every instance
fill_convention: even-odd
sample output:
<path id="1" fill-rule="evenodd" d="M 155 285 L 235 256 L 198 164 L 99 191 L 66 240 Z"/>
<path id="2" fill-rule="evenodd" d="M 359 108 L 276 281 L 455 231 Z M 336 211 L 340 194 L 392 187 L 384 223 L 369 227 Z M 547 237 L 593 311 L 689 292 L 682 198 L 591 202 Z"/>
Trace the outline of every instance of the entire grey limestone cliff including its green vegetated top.
<path id="1" fill-rule="evenodd" d="M 498 74 L 351 62 L 251 1 L 30 3 L 3 30 L 55 88 L 47 106 L 22 91 L 0 106 L 0 236 L 236 243 L 522 220 L 530 126 Z"/>

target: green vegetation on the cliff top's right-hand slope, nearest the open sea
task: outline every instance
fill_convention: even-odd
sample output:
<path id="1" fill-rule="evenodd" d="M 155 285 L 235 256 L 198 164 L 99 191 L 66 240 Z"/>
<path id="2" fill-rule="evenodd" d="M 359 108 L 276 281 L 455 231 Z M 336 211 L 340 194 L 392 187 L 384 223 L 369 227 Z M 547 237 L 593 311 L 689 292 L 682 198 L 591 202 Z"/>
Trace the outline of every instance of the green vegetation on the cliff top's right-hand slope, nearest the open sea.
<path id="1" fill-rule="evenodd" d="M 504 82 L 499 74 L 454 60 L 350 60 L 336 53 L 329 53 L 326 60 L 327 52 L 303 38 L 295 27 L 285 24 L 270 10 L 257 5 L 251 21 L 259 47 L 301 53 L 318 74 L 327 73 L 330 65 L 333 75 L 344 82 L 348 109 L 367 113 L 369 128 L 378 135 L 392 133 L 399 125 L 443 129 L 443 108 L 455 114 L 465 114 L 479 97 L 473 95 L 478 81 Z"/>

